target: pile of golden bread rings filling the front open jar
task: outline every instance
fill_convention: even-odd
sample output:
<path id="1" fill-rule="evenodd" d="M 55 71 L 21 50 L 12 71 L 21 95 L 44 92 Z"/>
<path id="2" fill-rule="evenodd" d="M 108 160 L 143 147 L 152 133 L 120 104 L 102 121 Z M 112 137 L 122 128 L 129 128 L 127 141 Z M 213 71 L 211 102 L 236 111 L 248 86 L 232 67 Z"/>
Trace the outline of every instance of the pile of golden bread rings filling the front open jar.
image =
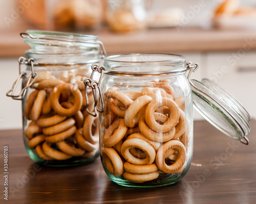
<path id="1" fill-rule="evenodd" d="M 103 96 L 102 162 L 114 176 L 134 183 L 160 173 L 181 173 L 188 144 L 184 97 L 162 80 L 141 92 L 109 88 Z M 187 128 L 188 129 L 188 128 Z"/>

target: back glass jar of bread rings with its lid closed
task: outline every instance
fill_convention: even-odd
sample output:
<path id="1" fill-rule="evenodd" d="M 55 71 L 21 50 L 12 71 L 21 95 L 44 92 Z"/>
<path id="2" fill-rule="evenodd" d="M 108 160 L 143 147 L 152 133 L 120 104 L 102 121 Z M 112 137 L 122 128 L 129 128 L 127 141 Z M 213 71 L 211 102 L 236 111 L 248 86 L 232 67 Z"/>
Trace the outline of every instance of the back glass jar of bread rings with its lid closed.
<path id="1" fill-rule="evenodd" d="M 92 63 L 99 63 L 102 43 L 97 36 L 72 33 L 29 30 L 20 35 L 31 49 L 19 58 L 19 78 L 7 95 L 22 99 L 30 158 L 48 166 L 94 161 L 99 156 L 98 121 L 84 109 L 83 79 L 90 77 Z M 22 91 L 16 94 L 20 84 Z"/>

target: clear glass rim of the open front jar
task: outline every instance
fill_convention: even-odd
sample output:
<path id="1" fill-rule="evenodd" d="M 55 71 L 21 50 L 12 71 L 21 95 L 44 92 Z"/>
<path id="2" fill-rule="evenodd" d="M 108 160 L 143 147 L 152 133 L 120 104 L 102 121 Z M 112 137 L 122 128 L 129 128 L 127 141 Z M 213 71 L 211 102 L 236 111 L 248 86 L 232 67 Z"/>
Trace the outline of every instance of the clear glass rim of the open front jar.
<path id="1" fill-rule="evenodd" d="M 186 58 L 178 54 L 125 54 L 103 59 L 107 72 L 120 74 L 161 74 L 186 70 Z"/>

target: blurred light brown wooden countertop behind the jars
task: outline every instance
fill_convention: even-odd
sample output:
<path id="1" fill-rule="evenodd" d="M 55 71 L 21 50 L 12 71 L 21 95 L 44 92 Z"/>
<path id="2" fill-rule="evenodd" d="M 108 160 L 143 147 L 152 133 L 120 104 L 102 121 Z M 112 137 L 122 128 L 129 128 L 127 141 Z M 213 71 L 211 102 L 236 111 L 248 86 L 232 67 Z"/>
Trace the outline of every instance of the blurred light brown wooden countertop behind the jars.
<path id="1" fill-rule="evenodd" d="M 26 30 L 0 32 L 0 57 L 24 56 L 29 46 L 19 33 Z M 77 32 L 79 33 L 79 32 Z M 108 55 L 127 53 L 221 52 L 256 49 L 256 31 L 203 30 L 200 28 L 161 28 L 116 34 L 108 29 L 82 32 L 99 36 Z"/>

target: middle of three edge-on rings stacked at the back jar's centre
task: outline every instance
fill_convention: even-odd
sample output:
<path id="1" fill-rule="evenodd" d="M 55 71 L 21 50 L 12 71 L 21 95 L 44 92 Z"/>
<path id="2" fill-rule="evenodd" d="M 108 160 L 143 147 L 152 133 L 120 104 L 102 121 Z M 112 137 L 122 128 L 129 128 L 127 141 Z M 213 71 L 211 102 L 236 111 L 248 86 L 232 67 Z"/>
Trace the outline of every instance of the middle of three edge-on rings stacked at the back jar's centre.
<path id="1" fill-rule="evenodd" d="M 45 135 L 55 135 L 61 133 L 63 131 L 68 130 L 70 127 L 74 126 L 75 122 L 75 119 L 70 117 L 63 122 L 60 122 L 50 127 L 43 128 L 42 133 L 44 133 Z"/>

